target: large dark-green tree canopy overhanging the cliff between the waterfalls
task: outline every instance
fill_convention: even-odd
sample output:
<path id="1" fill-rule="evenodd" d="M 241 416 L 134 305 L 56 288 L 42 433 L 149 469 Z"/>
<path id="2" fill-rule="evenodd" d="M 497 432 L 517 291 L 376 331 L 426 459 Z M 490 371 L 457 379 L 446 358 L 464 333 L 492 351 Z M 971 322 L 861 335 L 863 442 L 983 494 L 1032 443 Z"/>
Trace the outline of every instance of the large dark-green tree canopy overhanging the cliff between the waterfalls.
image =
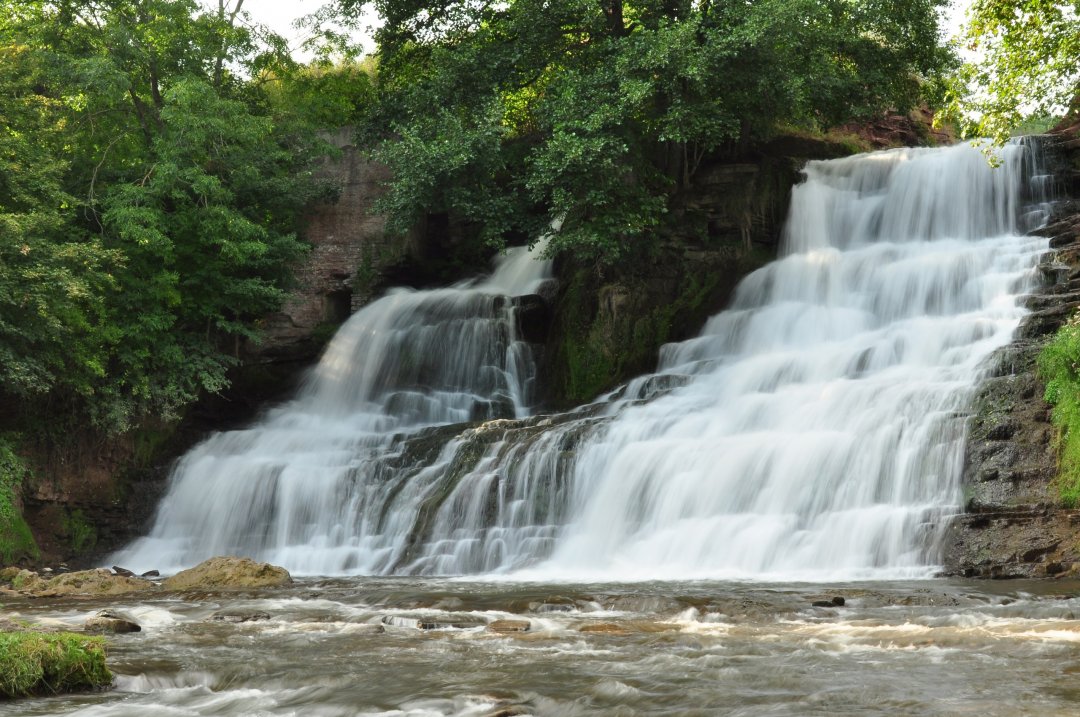
<path id="1" fill-rule="evenodd" d="M 391 228 L 447 212 L 499 245 L 561 219 L 553 252 L 605 262 L 662 233 L 710 152 L 906 109 L 947 64 L 940 0 L 374 4 L 360 138 Z"/>

